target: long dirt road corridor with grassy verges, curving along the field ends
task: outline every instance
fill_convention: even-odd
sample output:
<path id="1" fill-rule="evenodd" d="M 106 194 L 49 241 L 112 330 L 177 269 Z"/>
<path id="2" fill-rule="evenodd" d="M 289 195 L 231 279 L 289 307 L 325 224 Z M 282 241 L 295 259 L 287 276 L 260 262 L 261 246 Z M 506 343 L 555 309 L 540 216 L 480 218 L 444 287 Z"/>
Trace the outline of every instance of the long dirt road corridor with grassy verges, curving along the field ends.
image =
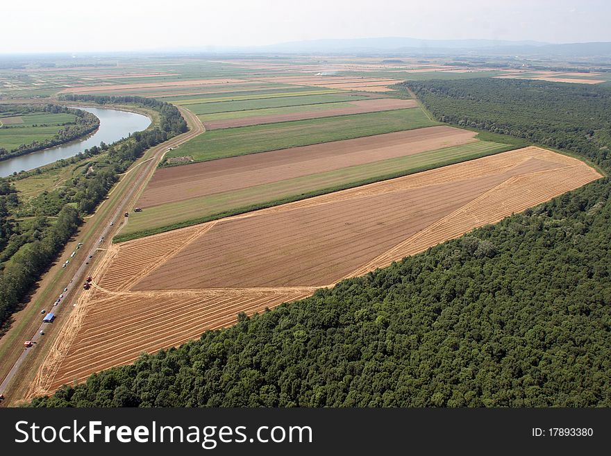
<path id="1" fill-rule="evenodd" d="M 190 130 L 178 135 L 171 140 L 155 146 L 144 154 L 140 160 L 128 170 L 112 189 L 109 199 L 101 205 L 94 216 L 88 218 L 76 235 L 74 242 L 68 244 L 61 257 L 69 255 L 69 251 L 76 248 L 80 239 L 83 244 L 78 253 L 87 252 L 86 255 L 75 255 L 78 260 L 69 264 L 69 268 L 62 268 L 62 261 L 58 261 L 49 272 L 39 281 L 39 289 L 33 295 L 30 303 L 26 306 L 24 315 L 21 316 L 19 325 L 12 328 L 2 339 L 0 355 L 3 358 L 0 378 L 0 393 L 6 396 L 2 405 L 11 405 L 14 398 L 21 398 L 19 391 L 27 387 L 27 383 L 33 377 L 35 369 L 44 361 L 44 356 L 49 351 L 51 342 L 55 339 L 62 324 L 72 311 L 70 303 L 75 302 L 78 295 L 83 292 L 80 286 L 88 271 L 92 270 L 93 263 L 103 259 L 106 254 L 108 242 L 115 235 L 123 223 L 128 219 L 124 212 L 130 212 L 131 208 L 153 176 L 155 169 L 169 148 L 178 146 L 190 140 L 192 137 L 203 133 L 204 128 L 201 121 L 190 111 L 179 108 L 187 121 Z M 110 223 L 113 223 L 112 226 Z M 90 259 L 90 256 L 92 259 Z M 89 264 L 91 263 L 91 264 Z M 63 292 L 67 289 L 66 292 Z M 86 293 L 86 292 L 85 292 Z M 53 305 L 56 297 L 63 294 L 60 304 Z M 53 312 L 56 316 L 54 323 L 41 323 L 42 315 L 40 309 Z M 45 334 L 41 335 L 40 331 Z M 24 341 L 34 342 L 30 348 L 24 348 Z M 12 365 L 10 364 L 12 362 Z M 10 367 L 10 369 L 8 369 Z"/>

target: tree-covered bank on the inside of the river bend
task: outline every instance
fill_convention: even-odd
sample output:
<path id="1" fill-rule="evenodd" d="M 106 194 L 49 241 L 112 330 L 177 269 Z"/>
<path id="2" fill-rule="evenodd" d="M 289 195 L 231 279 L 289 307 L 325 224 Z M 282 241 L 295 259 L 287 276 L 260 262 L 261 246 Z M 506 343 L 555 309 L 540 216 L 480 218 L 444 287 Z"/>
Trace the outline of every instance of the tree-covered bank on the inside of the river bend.
<path id="1" fill-rule="evenodd" d="M 42 151 L 47 147 L 57 146 L 58 144 L 64 144 L 83 137 L 88 133 L 92 133 L 97 130 L 100 126 L 100 119 L 98 119 L 91 112 L 67 108 L 61 105 L 2 105 L 0 111 L 3 115 L 17 116 L 23 114 L 29 114 L 32 112 L 51 112 L 58 114 L 60 112 L 66 114 L 73 114 L 76 116 L 74 124 L 69 123 L 63 126 L 56 135 L 50 137 L 47 140 L 33 141 L 30 144 L 21 144 L 19 147 L 7 151 L 0 147 L 0 160 L 8 160 L 9 158 L 19 157 L 19 155 L 26 155 L 26 153 L 32 153 L 36 151 Z M 3 128 L 17 129 L 24 128 L 22 126 L 3 126 Z"/>

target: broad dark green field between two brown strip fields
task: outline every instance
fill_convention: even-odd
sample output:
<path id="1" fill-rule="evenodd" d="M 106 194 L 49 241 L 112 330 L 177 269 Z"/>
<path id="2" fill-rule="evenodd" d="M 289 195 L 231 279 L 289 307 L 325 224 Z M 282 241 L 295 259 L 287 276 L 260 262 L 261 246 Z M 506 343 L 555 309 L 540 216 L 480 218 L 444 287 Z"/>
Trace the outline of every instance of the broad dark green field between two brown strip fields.
<path id="1" fill-rule="evenodd" d="M 420 108 L 212 130 L 169 151 L 196 162 L 437 125 Z"/>

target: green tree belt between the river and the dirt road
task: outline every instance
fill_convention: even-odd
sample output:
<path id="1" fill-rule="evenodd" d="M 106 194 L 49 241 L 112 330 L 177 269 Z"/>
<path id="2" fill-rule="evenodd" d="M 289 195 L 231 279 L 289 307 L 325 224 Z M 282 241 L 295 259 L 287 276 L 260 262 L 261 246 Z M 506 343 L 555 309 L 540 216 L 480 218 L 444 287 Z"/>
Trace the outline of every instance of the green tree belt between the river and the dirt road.
<path id="1" fill-rule="evenodd" d="M 0 179 L 0 328 L 19 307 L 31 286 L 55 260 L 82 217 L 94 212 L 112 185 L 142 153 L 187 130 L 181 112 L 168 103 L 139 97 L 70 96 L 71 101 L 146 105 L 160 113 L 158 126 L 115 142 L 94 146 L 75 160 L 103 158 L 85 163 L 63 185 L 21 201 L 11 179 Z M 85 101 L 85 100 L 83 100 Z M 31 173 L 43 171 L 31 171 Z M 49 217 L 57 217 L 50 223 Z M 19 219 L 19 221 L 16 221 Z M 1 332 L 1 330 L 0 330 Z"/>

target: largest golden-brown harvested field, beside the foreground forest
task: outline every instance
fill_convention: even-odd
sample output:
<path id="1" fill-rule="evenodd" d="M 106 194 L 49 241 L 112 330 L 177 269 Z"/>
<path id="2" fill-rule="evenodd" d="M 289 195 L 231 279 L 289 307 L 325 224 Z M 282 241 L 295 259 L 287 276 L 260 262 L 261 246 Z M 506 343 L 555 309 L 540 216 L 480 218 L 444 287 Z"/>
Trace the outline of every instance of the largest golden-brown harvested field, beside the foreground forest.
<path id="1" fill-rule="evenodd" d="M 112 244 L 28 395 L 386 267 L 600 177 L 530 146 Z"/>

